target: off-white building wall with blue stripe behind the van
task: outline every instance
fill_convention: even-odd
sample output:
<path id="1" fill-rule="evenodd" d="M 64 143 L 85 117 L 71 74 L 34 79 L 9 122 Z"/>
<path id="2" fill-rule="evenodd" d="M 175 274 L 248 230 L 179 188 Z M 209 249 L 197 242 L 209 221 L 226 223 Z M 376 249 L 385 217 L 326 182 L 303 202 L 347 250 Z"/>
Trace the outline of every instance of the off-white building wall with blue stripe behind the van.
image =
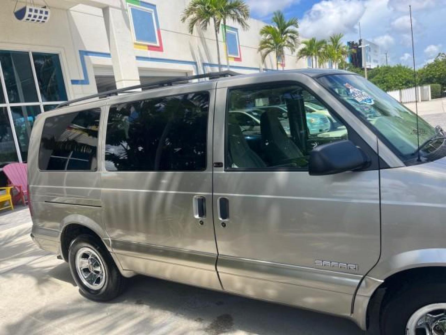
<path id="1" fill-rule="evenodd" d="M 67 3 L 63 0 L 52 1 L 49 22 L 35 24 L 17 21 L 12 14 L 16 1 L 4 2 L 0 12 L 0 49 L 59 53 L 69 98 L 97 92 L 95 68 L 102 67 L 110 71 L 113 61 L 101 8 L 82 4 L 70 9 L 57 8 L 58 4 L 62 3 L 67 7 Z M 163 51 L 132 50 L 137 58 L 136 65 L 140 75 L 165 73 L 168 76 L 218 71 L 213 26 L 209 26 L 207 31 L 194 30 L 194 34 L 190 35 L 187 25 L 180 21 L 187 0 L 147 2 L 157 6 Z M 91 3 L 94 4 L 95 1 Z M 121 1 L 121 8 L 127 11 L 124 4 L 124 0 Z M 240 62 L 230 62 L 231 70 L 252 73 L 276 68 L 273 55 L 266 59 L 265 64 L 261 64 L 257 51 L 260 42 L 259 31 L 264 25 L 263 22 L 250 20 L 248 31 L 243 31 L 233 22 L 227 22 L 227 25 L 239 30 L 242 56 Z M 219 34 L 219 46 L 224 70 L 226 57 L 222 34 Z M 305 59 L 297 61 L 295 55 L 285 55 L 285 69 L 305 67 Z"/>

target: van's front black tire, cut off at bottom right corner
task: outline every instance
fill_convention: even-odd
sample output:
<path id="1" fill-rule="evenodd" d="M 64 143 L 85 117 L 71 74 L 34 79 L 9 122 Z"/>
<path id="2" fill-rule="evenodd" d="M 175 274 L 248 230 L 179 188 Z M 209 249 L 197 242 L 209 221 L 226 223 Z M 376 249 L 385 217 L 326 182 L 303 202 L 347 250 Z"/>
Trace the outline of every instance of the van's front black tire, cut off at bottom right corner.
<path id="1" fill-rule="evenodd" d="M 446 284 L 420 281 L 384 298 L 381 335 L 405 335 L 409 318 L 421 307 L 446 303 Z"/>

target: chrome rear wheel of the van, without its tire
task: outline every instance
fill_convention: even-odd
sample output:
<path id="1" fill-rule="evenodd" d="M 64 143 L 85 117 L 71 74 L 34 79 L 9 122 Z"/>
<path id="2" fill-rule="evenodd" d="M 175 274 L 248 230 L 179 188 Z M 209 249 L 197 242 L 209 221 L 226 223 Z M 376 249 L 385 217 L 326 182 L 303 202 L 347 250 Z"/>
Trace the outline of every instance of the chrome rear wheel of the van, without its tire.
<path id="1" fill-rule="evenodd" d="M 102 289 L 105 284 L 106 271 L 97 251 L 82 247 L 76 253 L 76 270 L 83 285 L 90 289 Z"/>

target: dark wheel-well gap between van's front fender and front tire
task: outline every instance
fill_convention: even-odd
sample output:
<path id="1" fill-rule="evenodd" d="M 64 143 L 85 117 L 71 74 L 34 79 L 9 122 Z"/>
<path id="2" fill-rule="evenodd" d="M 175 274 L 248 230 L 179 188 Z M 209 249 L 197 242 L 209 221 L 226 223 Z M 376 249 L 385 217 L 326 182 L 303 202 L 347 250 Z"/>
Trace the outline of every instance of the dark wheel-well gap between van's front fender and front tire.
<path id="1" fill-rule="evenodd" d="M 427 266 L 411 268 L 396 272 L 386 278 L 384 282 L 376 288 L 367 307 L 367 331 L 370 335 L 380 334 L 379 320 L 384 306 L 399 292 L 409 286 L 422 282 L 442 282 L 446 276 L 446 267 Z"/>

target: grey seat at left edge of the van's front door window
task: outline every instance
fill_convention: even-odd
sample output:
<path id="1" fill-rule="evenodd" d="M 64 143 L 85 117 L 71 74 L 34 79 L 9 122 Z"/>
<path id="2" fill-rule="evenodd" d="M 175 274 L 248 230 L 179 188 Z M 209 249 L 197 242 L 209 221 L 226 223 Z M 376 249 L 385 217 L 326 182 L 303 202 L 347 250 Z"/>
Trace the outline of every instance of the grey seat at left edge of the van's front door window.
<path id="1" fill-rule="evenodd" d="M 264 161 L 249 147 L 246 138 L 237 123 L 227 126 L 229 140 L 229 155 L 233 167 L 266 167 Z"/>

